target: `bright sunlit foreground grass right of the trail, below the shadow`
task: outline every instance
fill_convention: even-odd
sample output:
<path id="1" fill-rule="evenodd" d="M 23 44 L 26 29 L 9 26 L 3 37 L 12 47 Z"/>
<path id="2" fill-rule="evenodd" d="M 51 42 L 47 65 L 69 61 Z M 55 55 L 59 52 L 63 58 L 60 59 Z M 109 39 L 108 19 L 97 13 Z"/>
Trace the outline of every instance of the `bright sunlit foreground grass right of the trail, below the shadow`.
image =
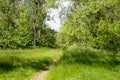
<path id="1" fill-rule="evenodd" d="M 51 69 L 47 80 L 119 80 L 117 71 L 84 64 L 58 65 Z"/>

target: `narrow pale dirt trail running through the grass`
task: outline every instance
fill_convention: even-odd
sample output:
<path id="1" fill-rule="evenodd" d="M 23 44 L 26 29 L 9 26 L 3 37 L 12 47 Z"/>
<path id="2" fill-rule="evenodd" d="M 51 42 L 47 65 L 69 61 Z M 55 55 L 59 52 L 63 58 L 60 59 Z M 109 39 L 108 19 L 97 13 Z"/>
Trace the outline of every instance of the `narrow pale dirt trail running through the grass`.
<path id="1" fill-rule="evenodd" d="M 45 69 L 42 72 L 37 72 L 33 74 L 30 80 L 45 80 L 47 74 L 49 73 L 49 69 L 52 67 L 53 64 L 54 62 L 45 67 Z"/>

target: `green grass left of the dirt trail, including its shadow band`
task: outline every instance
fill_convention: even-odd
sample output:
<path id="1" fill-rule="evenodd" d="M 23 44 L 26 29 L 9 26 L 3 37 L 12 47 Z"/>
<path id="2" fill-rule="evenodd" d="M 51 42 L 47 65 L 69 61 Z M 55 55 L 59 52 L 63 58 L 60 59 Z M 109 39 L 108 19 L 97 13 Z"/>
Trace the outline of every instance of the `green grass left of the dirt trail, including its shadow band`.
<path id="1" fill-rule="evenodd" d="M 61 56 L 61 50 L 0 50 L 0 80 L 29 80 L 34 72 L 43 70 Z"/>

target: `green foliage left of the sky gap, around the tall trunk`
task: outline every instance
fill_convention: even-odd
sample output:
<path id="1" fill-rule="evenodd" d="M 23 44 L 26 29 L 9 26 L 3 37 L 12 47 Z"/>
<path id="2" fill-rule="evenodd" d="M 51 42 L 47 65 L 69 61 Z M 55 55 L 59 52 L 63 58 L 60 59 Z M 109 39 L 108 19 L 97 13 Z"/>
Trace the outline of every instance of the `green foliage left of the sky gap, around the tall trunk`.
<path id="1" fill-rule="evenodd" d="M 29 48 L 34 45 L 34 40 L 39 40 L 36 46 L 52 47 L 52 43 L 54 45 L 55 32 L 48 30 L 44 25 L 46 8 L 45 2 L 41 1 L 38 1 L 38 14 L 35 15 L 34 0 L 22 2 L 0 0 L 0 48 Z M 34 35 L 34 27 L 36 28 L 36 35 Z M 49 39 L 43 36 L 47 36 Z"/>

